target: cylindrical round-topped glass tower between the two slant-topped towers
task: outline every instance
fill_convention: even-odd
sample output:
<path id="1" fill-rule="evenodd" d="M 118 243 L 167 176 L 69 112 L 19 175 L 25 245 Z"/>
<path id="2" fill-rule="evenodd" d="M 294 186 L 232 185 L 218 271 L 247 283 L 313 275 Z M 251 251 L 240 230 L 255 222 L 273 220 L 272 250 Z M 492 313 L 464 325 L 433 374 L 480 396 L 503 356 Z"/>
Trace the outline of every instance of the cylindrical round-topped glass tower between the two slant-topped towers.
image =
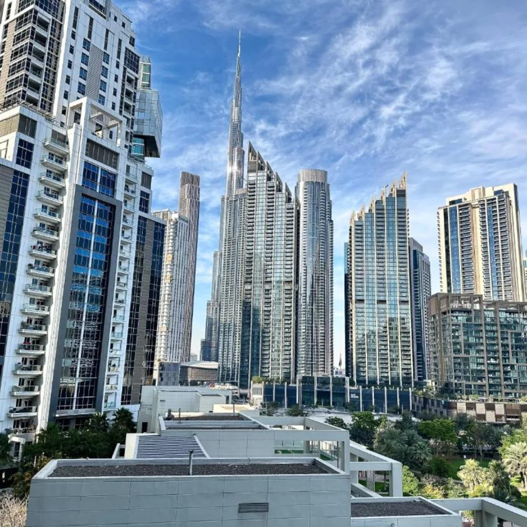
<path id="1" fill-rule="evenodd" d="M 325 170 L 300 170 L 297 374 L 333 373 L 333 220 Z"/>

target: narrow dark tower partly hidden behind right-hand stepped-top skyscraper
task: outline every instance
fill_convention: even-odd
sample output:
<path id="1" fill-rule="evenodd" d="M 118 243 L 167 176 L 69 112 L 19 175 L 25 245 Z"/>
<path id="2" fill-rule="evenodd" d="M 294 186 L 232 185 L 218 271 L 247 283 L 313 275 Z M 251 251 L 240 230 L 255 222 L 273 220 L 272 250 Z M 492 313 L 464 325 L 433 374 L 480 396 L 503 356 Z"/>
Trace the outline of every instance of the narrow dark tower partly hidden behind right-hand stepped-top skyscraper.
<path id="1" fill-rule="evenodd" d="M 430 259 L 421 243 L 408 240 L 410 288 L 412 302 L 412 349 L 414 353 L 414 379 L 427 379 L 428 364 L 428 298 L 432 294 Z"/>

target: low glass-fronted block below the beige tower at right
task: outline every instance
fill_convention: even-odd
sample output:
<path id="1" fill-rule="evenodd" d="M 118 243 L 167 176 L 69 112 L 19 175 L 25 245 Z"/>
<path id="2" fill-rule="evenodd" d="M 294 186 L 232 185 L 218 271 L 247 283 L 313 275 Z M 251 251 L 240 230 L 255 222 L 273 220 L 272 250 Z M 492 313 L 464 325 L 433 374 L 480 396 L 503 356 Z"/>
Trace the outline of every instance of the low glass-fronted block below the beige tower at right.
<path id="1" fill-rule="evenodd" d="M 527 304 L 438 293 L 428 302 L 430 380 L 457 395 L 527 395 Z"/>

